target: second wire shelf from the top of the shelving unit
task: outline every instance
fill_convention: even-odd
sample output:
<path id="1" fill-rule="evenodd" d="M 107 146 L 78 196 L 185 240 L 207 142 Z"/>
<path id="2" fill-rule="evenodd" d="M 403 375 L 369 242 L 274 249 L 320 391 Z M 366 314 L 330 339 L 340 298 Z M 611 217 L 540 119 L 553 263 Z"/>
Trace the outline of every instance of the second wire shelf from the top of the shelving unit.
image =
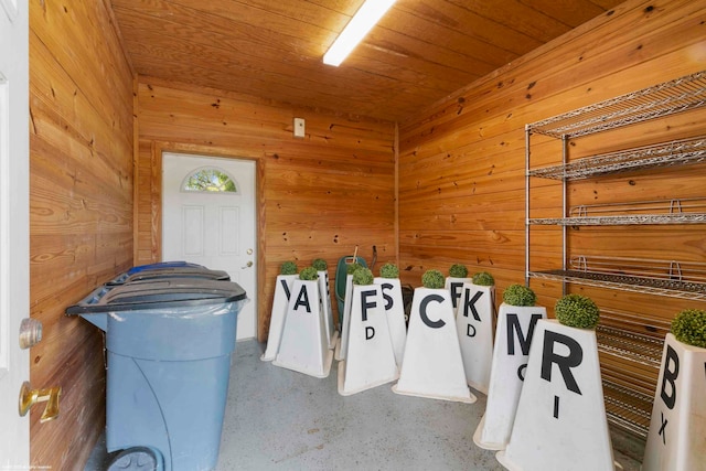
<path id="1" fill-rule="evenodd" d="M 706 161 L 706 137 L 699 136 L 587 157 L 560 165 L 533 169 L 527 172 L 527 175 L 553 180 L 581 180 L 611 173 L 694 164 L 704 161 Z"/>

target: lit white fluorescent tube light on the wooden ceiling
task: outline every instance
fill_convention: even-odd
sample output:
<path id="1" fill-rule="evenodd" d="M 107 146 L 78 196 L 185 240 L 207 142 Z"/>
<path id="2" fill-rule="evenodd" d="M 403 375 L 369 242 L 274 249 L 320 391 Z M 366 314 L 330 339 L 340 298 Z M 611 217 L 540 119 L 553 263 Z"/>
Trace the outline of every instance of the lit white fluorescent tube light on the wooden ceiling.
<path id="1" fill-rule="evenodd" d="M 365 0 L 323 56 L 323 63 L 339 66 L 383 18 L 396 0 Z"/>

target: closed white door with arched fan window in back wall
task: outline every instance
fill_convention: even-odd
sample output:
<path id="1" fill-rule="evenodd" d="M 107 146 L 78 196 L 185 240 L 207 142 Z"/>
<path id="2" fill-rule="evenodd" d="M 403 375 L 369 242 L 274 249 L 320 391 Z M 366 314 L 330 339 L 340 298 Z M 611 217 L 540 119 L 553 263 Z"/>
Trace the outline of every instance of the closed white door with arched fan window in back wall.
<path id="1" fill-rule="evenodd" d="M 238 340 L 257 334 L 255 201 L 254 161 L 162 154 L 162 260 L 225 270 L 245 289 Z"/>

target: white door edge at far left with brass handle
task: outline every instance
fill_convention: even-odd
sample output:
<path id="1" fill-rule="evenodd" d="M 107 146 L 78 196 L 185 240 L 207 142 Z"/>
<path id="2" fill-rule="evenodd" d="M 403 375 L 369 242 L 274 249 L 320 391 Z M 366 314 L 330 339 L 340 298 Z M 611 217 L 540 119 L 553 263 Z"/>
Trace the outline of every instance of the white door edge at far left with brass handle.
<path id="1" fill-rule="evenodd" d="M 30 315 L 28 2 L 0 0 L 0 469 L 29 469 L 30 420 L 20 387 L 30 356 L 19 346 Z"/>

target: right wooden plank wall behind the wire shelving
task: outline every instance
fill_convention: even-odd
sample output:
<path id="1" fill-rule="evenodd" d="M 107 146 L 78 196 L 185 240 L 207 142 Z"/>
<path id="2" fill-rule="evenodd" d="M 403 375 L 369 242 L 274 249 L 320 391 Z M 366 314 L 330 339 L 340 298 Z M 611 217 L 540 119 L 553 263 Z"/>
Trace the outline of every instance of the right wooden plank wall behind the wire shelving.
<path id="1" fill-rule="evenodd" d="M 402 124 L 403 280 L 419 285 L 429 268 L 448 270 L 453 263 L 464 263 L 472 272 L 484 270 L 495 277 L 496 302 L 502 302 L 500 293 L 509 285 L 525 281 L 525 124 L 702 71 L 705 39 L 706 1 L 630 0 Z M 705 109 L 577 139 L 569 154 L 580 158 L 687 136 L 706 136 Z M 549 164 L 549 159 L 560 163 L 560 142 L 541 136 L 532 142 L 534 164 Z M 531 183 L 532 217 L 560 217 L 560 183 L 536 180 Z M 571 183 L 568 200 L 610 204 L 704 199 L 705 188 L 706 164 L 700 163 Z M 560 228 L 534 227 L 532 269 L 561 268 Z M 703 264 L 706 232 L 703 224 L 580 227 L 568 229 L 568 250 L 574 256 Z M 667 275 L 668 263 L 660 272 Z M 533 279 L 531 288 L 537 303 L 553 315 L 561 283 Z M 591 297 L 601 309 L 602 323 L 657 339 L 664 338 L 680 310 L 706 308 L 704 301 L 607 288 L 569 285 L 568 289 Z M 644 394 L 642 403 L 625 396 L 635 409 L 619 416 L 632 417 L 631 410 L 642 409 L 649 417 L 651 411 L 659 371 L 635 361 L 641 354 L 601 353 L 605 381 Z M 635 420 L 641 427 L 649 424 Z"/>

